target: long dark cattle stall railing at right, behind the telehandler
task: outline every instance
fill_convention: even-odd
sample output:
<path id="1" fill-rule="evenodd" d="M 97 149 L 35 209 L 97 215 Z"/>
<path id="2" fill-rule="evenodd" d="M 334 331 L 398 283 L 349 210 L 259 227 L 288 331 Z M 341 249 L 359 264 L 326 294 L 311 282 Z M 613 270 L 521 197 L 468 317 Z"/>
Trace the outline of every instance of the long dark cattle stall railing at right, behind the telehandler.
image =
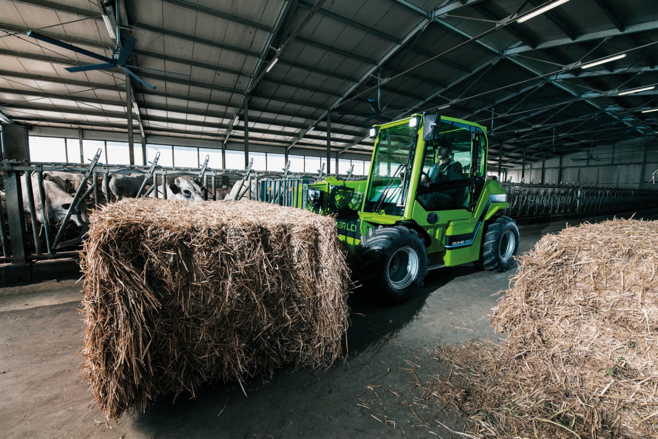
<path id="1" fill-rule="evenodd" d="M 658 190 L 619 186 L 503 182 L 513 218 L 578 215 L 658 205 Z"/>

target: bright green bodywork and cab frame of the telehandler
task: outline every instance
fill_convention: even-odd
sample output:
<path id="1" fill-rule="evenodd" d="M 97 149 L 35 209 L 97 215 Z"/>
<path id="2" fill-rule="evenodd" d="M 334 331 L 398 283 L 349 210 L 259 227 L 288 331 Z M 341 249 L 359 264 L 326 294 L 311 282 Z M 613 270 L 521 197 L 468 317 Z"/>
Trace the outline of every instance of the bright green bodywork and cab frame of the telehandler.
<path id="1" fill-rule="evenodd" d="M 334 214 L 336 215 L 336 226 L 338 228 L 338 236 L 345 244 L 347 249 L 348 261 L 350 261 L 355 254 L 355 247 L 361 242 L 361 236 L 368 234 L 368 231 L 378 226 L 393 226 L 396 224 L 404 224 L 410 228 L 418 230 L 426 240 L 427 253 L 430 261 L 430 266 L 453 266 L 467 262 L 477 261 L 480 259 L 480 249 L 482 244 L 482 236 L 484 234 L 485 222 L 493 217 L 498 211 L 507 209 L 509 203 L 503 201 L 501 197 L 494 197 L 492 195 L 504 195 L 505 190 L 500 186 L 497 181 L 486 180 L 486 163 L 488 144 L 486 140 L 486 128 L 473 122 L 467 122 L 456 118 L 446 116 L 441 117 L 441 122 L 455 122 L 460 126 L 473 127 L 473 131 L 480 130 L 482 139 L 477 143 L 482 149 L 481 155 L 476 156 L 478 159 L 478 168 L 476 173 L 480 176 L 478 184 L 473 180 L 472 186 L 465 194 L 465 207 L 460 209 L 449 209 L 440 211 L 426 211 L 423 205 L 417 199 L 418 186 L 420 182 L 420 174 L 423 170 L 426 145 L 423 140 L 422 115 L 413 115 L 409 118 L 396 120 L 388 124 L 377 126 L 380 130 L 388 128 L 395 128 L 396 126 L 403 126 L 409 124 L 410 120 L 417 118 L 417 137 L 415 138 L 414 151 L 410 154 L 413 161 L 407 162 L 407 172 L 410 172 L 408 186 L 406 192 L 401 195 L 399 203 L 403 203 L 403 211 L 401 215 L 390 215 L 384 209 L 375 211 L 366 211 L 365 204 L 367 200 L 368 188 L 374 184 L 376 176 L 376 154 L 378 153 L 378 144 L 380 136 L 375 141 L 372 158 L 370 162 L 370 172 L 368 172 L 367 180 L 361 181 L 342 181 L 334 177 L 328 177 L 322 182 L 309 184 L 309 188 L 314 188 L 324 193 L 322 200 L 322 209 L 318 213 Z M 409 124 L 409 126 L 412 126 Z M 475 146 L 472 146 L 475 148 Z M 391 165 L 388 165 L 391 167 Z M 395 176 L 393 176 L 395 177 Z M 401 178 L 400 184 L 401 184 Z M 394 178 L 392 179 L 394 180 Z M 382 178 L 378 180 L 381 184 Z M 396 182 L 398 180 L 395 180 Z M 331 193 L 334 186 L 344 186 L 345 188 L 353 188 L 352 195 L 353 207 L 348 213 L 345 212 L 331 212 L 328 209 L 328 195 Z M 402 186 L 404 191 L 405 186 Z M 386 192 L 386 190 L 385 190 Z M 386 195 L 388 196 L 388 194 Z M 461 196 L 461 195 L 460 195 Z M 473 199 L 475 197 L 475 199 Z M 300 197 L 301 199 L 301 197 Z M 358 204 L 355 205 L 355 203 Z M 302 207 L 302 206 L 299 206 Z M 432 215 L 430 215 L 432 214 Z M 430 219 L 433 222 L 430 222 Z"/>

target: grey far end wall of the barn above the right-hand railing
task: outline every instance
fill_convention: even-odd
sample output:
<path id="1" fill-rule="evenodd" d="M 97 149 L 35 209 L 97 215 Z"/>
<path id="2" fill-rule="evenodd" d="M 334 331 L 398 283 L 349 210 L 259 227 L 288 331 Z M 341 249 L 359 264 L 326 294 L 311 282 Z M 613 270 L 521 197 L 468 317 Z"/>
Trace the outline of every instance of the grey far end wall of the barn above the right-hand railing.
<path id="1" fill-rule="evenodd" d="M 560 165 L 561 162 L 561 165 Z M 620 142 L 597 147 L 588 151 L 548 159 L 544 163 L 544 183 L 599 184 L 658 188 L 649 182 L 651 174 L 658 170 L 658 141 L 655 137 L 644 141 Z M 520 182 L 522 167 L 507 171 L 507 179 Z M 542 161 L 526 163 L 526 183 L 542 182 Z"/>

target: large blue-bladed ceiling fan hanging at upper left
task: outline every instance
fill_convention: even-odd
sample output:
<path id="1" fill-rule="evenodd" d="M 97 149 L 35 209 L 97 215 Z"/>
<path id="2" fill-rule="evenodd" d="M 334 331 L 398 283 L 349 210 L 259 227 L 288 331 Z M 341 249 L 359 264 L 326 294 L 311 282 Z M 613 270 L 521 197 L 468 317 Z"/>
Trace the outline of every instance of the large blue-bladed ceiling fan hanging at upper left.
<path id="1" fill-rule="evenodd" d="M 176 72 L 168 72 L 166 70 L 159 70 L 157 68 L 146 68 L 146 67 L 139 67 L 139 66 L 134 66 L 134 65 L 129 65 L 127 64 L 128 59 L 130 59 L 130 55 L 132 53 L 132 49 L 135 47 L 136 39 L 131 38 L 125 34 L 120 34 L 118 32 L 119 30 L 119 23 L 120 23 L 120 16 L 119 16 L 119 0 L 116 0 L 116 6 L 114 7 L 114 10 L 116 11 L 116 32 L 114 32 L 114 35 L 116 36 L 116 47 L 112 51 L 112 55 L 110 58 L 105 57 L 104 55 L 99 55 L 98 53 L 93 53 L 91 51 L 88 51 L 86 49 L 82 49 L 82 47 L 77 47 L 72 44 L 64 43 L 64 41 L 59 41 L 59 39 L 51 38 L 49 36 L 41 35 L 38 32 L 34 32 L 34 30 L 28 31 L 28 36 L 32 38 L 36 38 L 39 41 L 44 41 L 45 43 L 50 43 L 59 47 L 62 47 L 63 49 L 68 49 L 70 51 L 74 51 L 76 53 L 80 53 L 82 55 L 86 55 L 88 57 L 97 59 L 99 61 L 103 61 L 103 63 L 100 64 L 91 64 L 91 65 L 86 65 L 86 66 L 74 66 L 74 67 L 66 67 L 65 70 L 68 72 L 88 72 L 89 70 L 107 70 L 109 68 L 120 68 L 124 70 L 127 74 L 141 82 L 146 88 L 149 88 L 151 90 L 155 90 L 154 86 L 151 86 L 148 82 L 140 78 L 133 70 L 148 70 L 151 72 L 163 72 L 163 73 L 169 73 L 169 74 L 175 74 L 178 76 L 186 76 L 190 78 L 191 75 L 188 74 L 182 74 L 182 73 L 176 73 Z M 104 18 L 107 18 L 107 16 L 104 16 Z"/>

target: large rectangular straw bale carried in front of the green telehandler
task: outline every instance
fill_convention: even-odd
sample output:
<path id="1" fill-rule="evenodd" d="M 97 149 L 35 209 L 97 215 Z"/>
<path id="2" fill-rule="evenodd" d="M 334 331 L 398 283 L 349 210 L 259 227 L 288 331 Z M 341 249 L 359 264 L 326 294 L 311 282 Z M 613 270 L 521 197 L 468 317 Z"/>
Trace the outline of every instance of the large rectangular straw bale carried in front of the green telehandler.
<path id="1" fill-rule="evenodd" d="M 83 370 L 107 417 L 341 355 L 349 276 L 328 217 L 124 199 L 91 215 L 82 269 Z"/>

